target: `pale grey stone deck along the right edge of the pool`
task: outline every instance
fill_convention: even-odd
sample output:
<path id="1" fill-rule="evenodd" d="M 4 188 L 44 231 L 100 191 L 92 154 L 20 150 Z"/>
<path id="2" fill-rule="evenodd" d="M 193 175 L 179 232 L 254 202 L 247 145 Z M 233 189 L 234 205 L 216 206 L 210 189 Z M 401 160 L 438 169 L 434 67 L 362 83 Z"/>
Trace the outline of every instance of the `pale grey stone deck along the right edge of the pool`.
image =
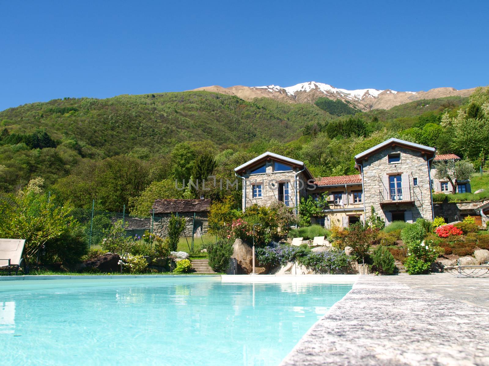
<path id="1" fill-rule="evenodd" d="M 359 276 L 281 366 L 488 366 L 489 278 Z"/>

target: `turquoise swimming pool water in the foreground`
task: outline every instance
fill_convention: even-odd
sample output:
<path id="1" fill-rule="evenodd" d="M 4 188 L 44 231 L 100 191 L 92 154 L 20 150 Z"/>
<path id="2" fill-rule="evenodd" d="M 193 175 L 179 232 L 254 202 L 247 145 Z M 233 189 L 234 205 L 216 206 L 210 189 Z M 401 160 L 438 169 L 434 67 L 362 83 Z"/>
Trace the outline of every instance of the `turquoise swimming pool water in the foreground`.
<path id="1" fill-rule="evenodd" d="M 4 365 L 278 365 L 352 288 L 220 277 L 9 283 Z"/>

